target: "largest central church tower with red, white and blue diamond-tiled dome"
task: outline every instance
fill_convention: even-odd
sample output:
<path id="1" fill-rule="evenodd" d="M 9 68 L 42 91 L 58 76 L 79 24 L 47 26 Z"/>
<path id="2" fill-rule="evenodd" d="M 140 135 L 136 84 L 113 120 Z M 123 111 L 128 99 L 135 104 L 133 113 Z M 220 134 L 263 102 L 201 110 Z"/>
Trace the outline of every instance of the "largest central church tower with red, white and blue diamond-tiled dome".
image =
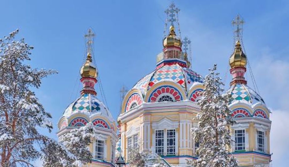
<path id="1" fill-rule="evenodd" d="M 128 149 L 138 146 L 172 166 L 186 166 L 186 159 L 197 158 L 194 151 L 198 144 L 190 129 L 197 125 L 193 118 L 200 112 L 197 101 L 203 77 L 189 68 L 188 56 L 182 51 L 179 11 L 174 3 L 165 10 L 163 49 L 157 55 L 156 68 L 123 99 L 117 120 L 126 163 Z"/>

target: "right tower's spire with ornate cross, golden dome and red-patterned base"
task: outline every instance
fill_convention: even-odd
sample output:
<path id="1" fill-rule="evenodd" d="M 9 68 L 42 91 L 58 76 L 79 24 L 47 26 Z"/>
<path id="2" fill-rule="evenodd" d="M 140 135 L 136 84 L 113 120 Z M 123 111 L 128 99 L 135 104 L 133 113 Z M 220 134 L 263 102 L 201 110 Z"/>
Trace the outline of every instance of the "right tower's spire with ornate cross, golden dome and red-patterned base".
<path id="1" fill-rule="evenodd" d="M 242 51 L 242 25 L 244 20 L 238 14 L 236 18 L 233 19 L 232 25 L 236 27 L 234 30 L 234 41 L 236 41 L 234 52 L 232 53 L 229 64 L 231 66 L 230 73 L 233 77 L 231 85 L 240 83 L 247 84 L 247 81 L 244 78 L 246 72 L 247 57 Z"/>

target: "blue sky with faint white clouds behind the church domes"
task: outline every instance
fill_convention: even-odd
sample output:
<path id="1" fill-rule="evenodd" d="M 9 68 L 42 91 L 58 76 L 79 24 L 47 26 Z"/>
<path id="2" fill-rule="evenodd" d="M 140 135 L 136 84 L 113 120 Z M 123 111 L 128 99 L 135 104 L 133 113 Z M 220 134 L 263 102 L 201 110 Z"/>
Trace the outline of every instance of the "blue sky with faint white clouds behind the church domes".
<path id="1" fill-rule="evenodd" d="M 25 38 L 35 47 L 29 64 L 59 72 L 44 79 L 36 90 L 53 116 L 55 128 L 46 134 L 56 138 L 58 119 L 67 105 L 79 96 L 79 68 L 84 60 L 83 36 L 87 29 L 92 27 L 96 34 L 95 59 L 108 107 L 116 118 L 121 87 L 131 88 L 155 68 L 156 55 L 162 51 L 163 11 L 170 3 L 165 0 L 1 2 L 0 36 L 19 28 L 18 38 Z M 182 36 L 192 41 L 192 69 L 204 76 L 207 69 L 217 63 L 226 78 L 226 88 L 231 79 L 227 70 L 233 49 L 231 20 L 238 13 L 244 18 L 246 53 L 260 94 L 273 112 L 273 166 L 288 164 L 288 1 L 175 3 L 181 9 Z M 249 73 L 246 78 L 253 87 Z"/>

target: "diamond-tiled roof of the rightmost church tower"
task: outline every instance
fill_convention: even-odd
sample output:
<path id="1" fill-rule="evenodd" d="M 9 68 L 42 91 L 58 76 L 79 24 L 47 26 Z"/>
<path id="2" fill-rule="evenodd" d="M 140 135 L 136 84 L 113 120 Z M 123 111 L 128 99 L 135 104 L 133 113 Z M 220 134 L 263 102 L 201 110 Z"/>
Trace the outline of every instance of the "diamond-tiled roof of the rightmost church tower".
<path id="1" fill-rule="evenodd" d="M 230 90 L 233 98 L 232 103 L 235 101 L 242 101 L 251 104 L 258 102 L 265 104 L 264 100 L 247 85 L 235 84 L 231 86 Z"/>

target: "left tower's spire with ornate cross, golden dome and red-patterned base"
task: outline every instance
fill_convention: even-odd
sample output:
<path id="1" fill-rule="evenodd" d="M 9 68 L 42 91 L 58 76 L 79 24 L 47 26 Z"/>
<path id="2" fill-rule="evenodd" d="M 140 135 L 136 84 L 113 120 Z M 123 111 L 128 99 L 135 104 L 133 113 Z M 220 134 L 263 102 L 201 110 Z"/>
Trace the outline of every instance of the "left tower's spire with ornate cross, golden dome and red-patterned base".
<path id="1" fill-rule="evenodd" d="M 93 55 L 93 37 L 95 35 L 93 34 L 91 28 L 88 29 L 88 34 L 85 34 L 84 37 L 86 38 L 86 61 L 80 68 L 80 75 L 81 79 L 80 81 L 83 84 L 83 88 L 81 90 L 81 94 L 94 94 L 96 95 L 96 91 L 94 89 L 94 85 L 97 83 L 97 68 L 92 62 L 92 55 Z"/>

